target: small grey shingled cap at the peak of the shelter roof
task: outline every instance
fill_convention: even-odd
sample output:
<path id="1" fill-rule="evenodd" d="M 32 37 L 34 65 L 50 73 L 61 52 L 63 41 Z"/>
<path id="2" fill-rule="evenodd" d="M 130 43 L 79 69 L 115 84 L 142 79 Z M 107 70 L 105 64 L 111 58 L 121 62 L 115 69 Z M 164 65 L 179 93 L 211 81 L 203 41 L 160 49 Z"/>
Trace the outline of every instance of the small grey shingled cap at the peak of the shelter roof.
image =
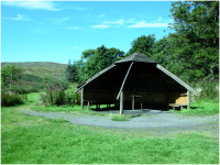
<path id="1" fill-rule="evenodd" d="M 155 63 L 155 64 L 157 64 L 156 62 L 154 62 L 153 59 L 148 58 L 146 55 L 141 54 L 141 53 L 133 53 L 132 55 L 116 62 L 116 64 L 125 63 L 125 62 L 141 62 L 141 63 Z"/>

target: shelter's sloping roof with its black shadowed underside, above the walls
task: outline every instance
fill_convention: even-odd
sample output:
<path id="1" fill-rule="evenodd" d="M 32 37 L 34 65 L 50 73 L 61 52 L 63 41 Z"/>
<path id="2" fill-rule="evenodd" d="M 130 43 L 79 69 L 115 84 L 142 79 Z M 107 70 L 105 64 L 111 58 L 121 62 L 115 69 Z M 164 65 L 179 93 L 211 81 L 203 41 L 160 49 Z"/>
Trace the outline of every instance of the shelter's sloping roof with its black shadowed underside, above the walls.
<path id="1" fill-rule="evenodd" d="M 131 68 L 124 86 L 127 90 L 180 91 L 187 89 L 197 95 L 197 91 L 194 88 L 176 75 L 141 53 L 134 53 L 106 67 L 79 85 L 76 91 L 84 87 L 119 90 L 119 87 L 122 84 L 121 79 L 124 78 L 131 63 L 134 63 L 134 65 Z"/>

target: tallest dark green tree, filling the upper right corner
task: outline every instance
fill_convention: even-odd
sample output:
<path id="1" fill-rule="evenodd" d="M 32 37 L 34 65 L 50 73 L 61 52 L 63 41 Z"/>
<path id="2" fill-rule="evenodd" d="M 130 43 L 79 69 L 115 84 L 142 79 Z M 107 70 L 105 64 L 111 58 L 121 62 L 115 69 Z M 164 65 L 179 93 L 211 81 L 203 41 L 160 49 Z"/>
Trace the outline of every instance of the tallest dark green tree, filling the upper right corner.
<path id="1" fill-rule="evenodd" d="M 172 7 L 174 57 L 195 78 L 213 77 L 219 68 L 219 2 L 176 1 Z"/>

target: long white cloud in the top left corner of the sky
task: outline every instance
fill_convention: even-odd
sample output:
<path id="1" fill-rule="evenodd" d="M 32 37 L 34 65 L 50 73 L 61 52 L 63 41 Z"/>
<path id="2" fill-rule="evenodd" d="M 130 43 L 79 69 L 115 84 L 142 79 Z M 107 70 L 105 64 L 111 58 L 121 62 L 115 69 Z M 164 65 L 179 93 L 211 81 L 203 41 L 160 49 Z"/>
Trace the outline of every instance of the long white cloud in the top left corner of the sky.
<path id="1" fill-rule="evenodd" d="M 42 9 L 42 10 L 52 10 L 58 11 L 61 9 L 56 8 L 56 4 L 52 1 L 42 1 L 42 0 L 29 0 L 29 1 L 2 1 L 3 6 L 14 6 L 26 9 Z"/>

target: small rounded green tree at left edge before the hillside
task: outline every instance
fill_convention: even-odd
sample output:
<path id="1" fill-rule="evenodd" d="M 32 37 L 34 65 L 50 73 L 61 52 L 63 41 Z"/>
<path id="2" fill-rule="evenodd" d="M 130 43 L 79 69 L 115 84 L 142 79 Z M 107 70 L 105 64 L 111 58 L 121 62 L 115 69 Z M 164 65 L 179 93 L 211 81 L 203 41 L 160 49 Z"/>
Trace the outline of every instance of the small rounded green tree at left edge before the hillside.
<path id="1" fill-rule="evenodd" d="M 7 65 L 6 67 L 1 68 L 1 78 L 6 86 L 13 81 L 16 81 L 21 77 L 21 68 L 16 68 L 14 65 Z"/>

